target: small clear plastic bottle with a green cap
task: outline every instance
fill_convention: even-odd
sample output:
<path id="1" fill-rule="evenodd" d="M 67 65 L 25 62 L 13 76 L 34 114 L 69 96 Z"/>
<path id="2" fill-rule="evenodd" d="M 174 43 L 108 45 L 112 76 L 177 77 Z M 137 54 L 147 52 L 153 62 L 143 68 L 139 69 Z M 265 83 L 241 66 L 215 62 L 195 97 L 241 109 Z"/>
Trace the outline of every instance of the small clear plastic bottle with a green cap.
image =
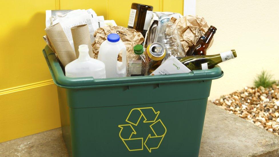
<path id="1" fill-rule="evenodd" d="M 135 57 L 128 61 L 127 75 L 128 76 L 145 76 L 148 75 L 148 58 L 144 53 L 142 45 L 134 46 Z"/>

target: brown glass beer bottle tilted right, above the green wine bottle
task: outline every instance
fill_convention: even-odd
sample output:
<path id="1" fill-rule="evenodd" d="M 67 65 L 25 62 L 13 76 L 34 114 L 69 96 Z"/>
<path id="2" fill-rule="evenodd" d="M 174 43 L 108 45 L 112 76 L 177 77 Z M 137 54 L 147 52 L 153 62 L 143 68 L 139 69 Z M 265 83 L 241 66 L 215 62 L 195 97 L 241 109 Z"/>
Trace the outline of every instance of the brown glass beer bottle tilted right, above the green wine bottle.
<path id="1" fill-rule="evenodd" d="M 214 26 L 210 26 L 206 33 L 200 37 L 197 41 L 196 45 L 191 47 L 187 52 L 186 56 L 191 55 L 206 55 L 206 50 L 213 39 L 213 35 L 216 33 L 216 28 Z"/>

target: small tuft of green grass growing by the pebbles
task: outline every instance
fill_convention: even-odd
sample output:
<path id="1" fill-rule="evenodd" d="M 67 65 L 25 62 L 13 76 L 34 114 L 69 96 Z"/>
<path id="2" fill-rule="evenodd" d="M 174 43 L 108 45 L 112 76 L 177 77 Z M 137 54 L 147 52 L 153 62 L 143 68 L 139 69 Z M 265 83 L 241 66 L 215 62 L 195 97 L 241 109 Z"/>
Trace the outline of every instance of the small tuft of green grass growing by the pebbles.
<path id="1" fill-rule="evenodd" d="M 271 75 L 267 71 L 263 70 L 254 79 L 254 86 L 255 87 L 263 86 L 264 88 L 271 87 L 272 84 L 275 83 L 275 80 L 273 80 L 272 77 L 273 77 L 273 75 Z"/>

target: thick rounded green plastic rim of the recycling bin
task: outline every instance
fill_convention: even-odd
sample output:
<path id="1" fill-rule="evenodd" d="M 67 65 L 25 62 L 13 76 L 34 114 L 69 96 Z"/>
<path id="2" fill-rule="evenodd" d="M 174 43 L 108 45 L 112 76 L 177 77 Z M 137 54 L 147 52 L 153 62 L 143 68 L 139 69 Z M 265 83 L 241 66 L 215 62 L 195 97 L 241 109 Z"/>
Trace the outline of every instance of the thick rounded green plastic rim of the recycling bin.
<path id="1" fill-rule="evenodd" d="M 94 79 L 93 77 L 66 77 L 55 53 L 48 45 L 43 49 L 43 55 L 49 67 L 53 82 L 61 87 L 68 89 L 110 87 L 110 86 L 131 86 L 141 84 L 161 84 L 171 82 L 192 82 L 214 80 L 222 77 L 224 72 L 221 67 L 216 65 L 212 69 L 193 70 L 190 73 L 154 75 L 154 76 L 133 76 L 119 78 Z"/>

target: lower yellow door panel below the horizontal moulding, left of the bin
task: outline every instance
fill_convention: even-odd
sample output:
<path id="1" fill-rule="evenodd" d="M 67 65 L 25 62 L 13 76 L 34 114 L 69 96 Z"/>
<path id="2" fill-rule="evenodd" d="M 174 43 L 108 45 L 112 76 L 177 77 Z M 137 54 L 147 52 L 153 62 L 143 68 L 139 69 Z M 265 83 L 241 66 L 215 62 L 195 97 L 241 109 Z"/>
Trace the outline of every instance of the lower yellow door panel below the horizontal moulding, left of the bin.
<path id="1" fill-rule="evenodd" d="M 0 142 L 60 126 L 54 84 L 0 95 Z"/>

